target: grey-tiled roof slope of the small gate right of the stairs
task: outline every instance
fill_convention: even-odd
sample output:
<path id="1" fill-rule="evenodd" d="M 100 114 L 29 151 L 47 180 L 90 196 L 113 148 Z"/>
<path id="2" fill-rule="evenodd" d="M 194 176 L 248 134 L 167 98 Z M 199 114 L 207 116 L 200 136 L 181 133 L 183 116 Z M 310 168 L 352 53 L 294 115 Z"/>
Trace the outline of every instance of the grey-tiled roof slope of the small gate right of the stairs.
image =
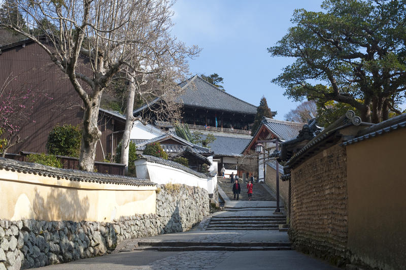
<path id="1" fill-rule="evenodd" d="M 264 117 L 262 123 L 282 142 L 295 138 L 302 129 L 304 123 L 281 121 Z"/>

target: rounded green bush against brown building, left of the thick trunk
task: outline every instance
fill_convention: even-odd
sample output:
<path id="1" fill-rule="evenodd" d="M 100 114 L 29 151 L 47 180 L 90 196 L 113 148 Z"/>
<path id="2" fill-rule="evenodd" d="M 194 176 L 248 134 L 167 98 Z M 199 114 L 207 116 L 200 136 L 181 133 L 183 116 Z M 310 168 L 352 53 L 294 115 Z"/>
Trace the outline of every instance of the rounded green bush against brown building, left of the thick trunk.
<path id="1" fill-rule="evenodd" d="M 48 134 L 47 151 L 52 155 L 79 157 L 81 137 L 79 125 L 57 125 Z"/>

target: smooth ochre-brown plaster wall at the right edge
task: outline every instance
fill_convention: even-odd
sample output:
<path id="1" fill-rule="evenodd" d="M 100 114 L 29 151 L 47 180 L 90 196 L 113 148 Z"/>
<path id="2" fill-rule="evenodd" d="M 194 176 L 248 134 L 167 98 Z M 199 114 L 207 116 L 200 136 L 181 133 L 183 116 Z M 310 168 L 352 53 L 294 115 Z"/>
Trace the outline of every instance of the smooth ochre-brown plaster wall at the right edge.
<path id="1" fill-rule="evenodd" d="M 354 259 L 406 269 L 406 129 L 347 146 L 348 246 Z"/>

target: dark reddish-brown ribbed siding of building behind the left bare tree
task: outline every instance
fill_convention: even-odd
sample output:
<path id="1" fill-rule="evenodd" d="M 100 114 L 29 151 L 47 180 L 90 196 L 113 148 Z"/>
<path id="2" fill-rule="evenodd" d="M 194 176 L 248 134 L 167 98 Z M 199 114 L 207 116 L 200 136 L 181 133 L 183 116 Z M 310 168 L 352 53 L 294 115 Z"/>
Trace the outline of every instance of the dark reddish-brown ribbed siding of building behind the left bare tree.
<path id="1" fill-rule="evenodd" d="M 85 68 L 84 68 L 85 69 Z M 82 101 L 66 75 L 53 64 L 49 56 L 35 43 L 26 43 L 13 48 L 3 49 L 0 54 L 0 85 L 8 77 L 16 77 L 10 87 L 14 89 L 30 88 L 36 93 L 36 102 L 30 116 L 20 131 L 21 138 L 27 138 L 9 149 L 9 153 L 46 152 L 49 131 L 57 124 L 77 125 L 82 122 Z M 46 95 L 45 95 L 46 94 Z M 100 138 L 103 151 L 107 156 L 111 152 L 111 117 L 99 117 Z M 121 136 L 121 135 L 120 135 Z M 114 136 L 114 148 L 117 134 Z M 121 138 L 119 138 L 121 139 Z M 97 143 L 96 160 L 103 160 L 103 151 Z M 115 149 L 114 149 L 115 150 Z"/>

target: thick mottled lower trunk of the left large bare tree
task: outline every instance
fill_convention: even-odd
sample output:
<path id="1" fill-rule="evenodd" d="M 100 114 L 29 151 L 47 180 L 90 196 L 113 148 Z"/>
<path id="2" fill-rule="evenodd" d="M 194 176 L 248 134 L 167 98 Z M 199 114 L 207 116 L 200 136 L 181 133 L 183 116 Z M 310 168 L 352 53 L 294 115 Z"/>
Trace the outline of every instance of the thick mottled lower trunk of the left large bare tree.
<path id="1" fill-rule="evenodd" d="M 99 92 L 91 97 L 89 105 L 83 114 L 82 142 L 80 145 L 79 168 L 80 170 L 92 172 L 96 156 L 97 141 L 101 136 L 97 128 L 98 109 L 100 106 Z"/>

